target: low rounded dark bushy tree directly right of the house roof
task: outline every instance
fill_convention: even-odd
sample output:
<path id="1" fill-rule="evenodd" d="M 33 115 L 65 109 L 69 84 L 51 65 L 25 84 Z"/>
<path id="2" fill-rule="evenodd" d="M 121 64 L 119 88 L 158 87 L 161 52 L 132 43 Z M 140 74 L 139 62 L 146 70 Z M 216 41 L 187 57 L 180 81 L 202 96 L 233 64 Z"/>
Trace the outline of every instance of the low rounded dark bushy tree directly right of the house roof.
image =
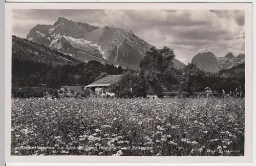
<path id="1" fill-rule="evenodd" d="M 146 81 L 133 71 L 126 72 L 117 83 L 110 87 L 111 92 L 120 98 L 146 97 L 147 89 Z"/>

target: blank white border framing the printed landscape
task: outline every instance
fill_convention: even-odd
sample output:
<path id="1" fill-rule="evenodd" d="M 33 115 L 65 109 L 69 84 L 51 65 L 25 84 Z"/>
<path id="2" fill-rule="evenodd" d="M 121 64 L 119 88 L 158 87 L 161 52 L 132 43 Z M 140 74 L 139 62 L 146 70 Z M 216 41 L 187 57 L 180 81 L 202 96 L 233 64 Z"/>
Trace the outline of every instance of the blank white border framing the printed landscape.
<path id="1" fill-rule="evenodd" d="M 6 162 L 59 162 L 59 163 L 251 163 L 251 110 L 252 110 L 252 8 L 251 4 L 44 4 L 6 3 L 6 55 L 5 55 L 5 151 Z M 12 9 L 180 9 L 180 10 L 245 10 L 245 60 L 246 60 L 246 129 L 244 157 L 135 157 L 135 156 L 11 156 L 11 29 Z M 13 165 L 12 164 L 12 165 Z M 38 163 L 39 164 L 39 163 Z M 27 165 L 27 163 L 26 163 Z M 147 164 L 148 165 L 148 164 Z"/>

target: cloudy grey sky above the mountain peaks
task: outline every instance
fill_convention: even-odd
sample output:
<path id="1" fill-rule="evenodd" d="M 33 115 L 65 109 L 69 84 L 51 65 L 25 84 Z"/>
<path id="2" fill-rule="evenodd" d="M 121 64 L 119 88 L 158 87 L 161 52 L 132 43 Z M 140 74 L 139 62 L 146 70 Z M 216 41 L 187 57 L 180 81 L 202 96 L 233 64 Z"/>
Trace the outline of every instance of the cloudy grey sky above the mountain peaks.
<path id="1" fill-rule="evenodd" d="M 37 24 L 53 25 L 58 17 L 98 27 L 133 31 L 146 42 L 173 48 L 187 64 L 198 53 L 223 57 L 245 52 L 242 10 L 13 10 L 12 34 L 24 37 Z"/>

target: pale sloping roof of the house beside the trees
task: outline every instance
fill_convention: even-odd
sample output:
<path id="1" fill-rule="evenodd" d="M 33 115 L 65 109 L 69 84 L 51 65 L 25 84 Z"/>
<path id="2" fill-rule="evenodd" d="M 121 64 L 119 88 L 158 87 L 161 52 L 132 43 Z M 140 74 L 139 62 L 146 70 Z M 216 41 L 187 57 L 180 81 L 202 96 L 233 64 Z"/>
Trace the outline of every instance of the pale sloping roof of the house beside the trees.
<path id="1" fill-rule="evenodd" d="M 98 86 L 110 86 L 110 84 L 114 84 L 120 80 L 122 75 L 109 75 L 103 77 L 85 87 L 98 87 Z"/>

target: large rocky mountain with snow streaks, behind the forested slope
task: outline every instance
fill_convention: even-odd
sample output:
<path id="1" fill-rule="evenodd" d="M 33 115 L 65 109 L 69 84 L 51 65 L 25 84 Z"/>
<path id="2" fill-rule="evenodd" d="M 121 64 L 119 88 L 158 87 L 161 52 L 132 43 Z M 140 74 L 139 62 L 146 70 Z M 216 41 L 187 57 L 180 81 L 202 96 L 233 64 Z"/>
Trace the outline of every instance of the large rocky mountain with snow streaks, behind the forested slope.
<path id="1" fill-rule="evenodd" d="M 59 17 L 54 25 L 37 25 L 27 39 L 84 62 L 97 60 L 101 63 L 137 68 L 153 45 L 130 30 L 113 27 L 94 27 Z M 175 59 L 177 67 L 184 64 Z"/>

